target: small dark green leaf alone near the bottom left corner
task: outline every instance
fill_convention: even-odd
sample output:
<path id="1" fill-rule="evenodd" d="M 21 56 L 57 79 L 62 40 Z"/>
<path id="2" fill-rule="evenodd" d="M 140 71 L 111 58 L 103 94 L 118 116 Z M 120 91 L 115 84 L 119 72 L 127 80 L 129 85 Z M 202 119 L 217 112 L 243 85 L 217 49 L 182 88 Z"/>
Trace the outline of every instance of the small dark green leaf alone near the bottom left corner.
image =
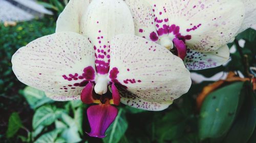
<path id="1" fill-rule="evenodd" d="M 17 112 L 13 112 L 9 118 L 8 129 L 7 129 L 7 138 L 13 137 L 19 128 L 23 127 L 22 121 L 18 116 Z"/>

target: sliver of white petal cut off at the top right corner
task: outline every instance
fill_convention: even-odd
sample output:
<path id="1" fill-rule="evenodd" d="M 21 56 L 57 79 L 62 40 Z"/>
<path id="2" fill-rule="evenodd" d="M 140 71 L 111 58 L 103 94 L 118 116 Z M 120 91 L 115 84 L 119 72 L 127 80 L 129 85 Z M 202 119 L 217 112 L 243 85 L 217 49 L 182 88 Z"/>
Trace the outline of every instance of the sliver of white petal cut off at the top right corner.
<path id="1" fill-rule="evenodd" d="M 247 28 L 256 24 L 256 1 L 242 0 L 245 5 L 245 19 L 238 33 L 243 32 Z"/>

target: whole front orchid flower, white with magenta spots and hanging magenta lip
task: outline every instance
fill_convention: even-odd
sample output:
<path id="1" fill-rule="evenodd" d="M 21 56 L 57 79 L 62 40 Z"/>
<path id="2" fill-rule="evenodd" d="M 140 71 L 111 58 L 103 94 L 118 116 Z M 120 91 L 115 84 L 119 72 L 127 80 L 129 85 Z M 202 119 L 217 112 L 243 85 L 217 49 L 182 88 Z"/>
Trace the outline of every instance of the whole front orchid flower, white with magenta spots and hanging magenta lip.
<path id="1" fill-rule="evenodd" d="M 81 99 L 94 137 L 104 137 L 116 105 L 163 110 L 191 84 L 178 56 L 134 35 L 129 7 L 121 0 L 71 0 L 56 33 L 19 48 L 13 71 L 23 83 L 56 101 Z"/>

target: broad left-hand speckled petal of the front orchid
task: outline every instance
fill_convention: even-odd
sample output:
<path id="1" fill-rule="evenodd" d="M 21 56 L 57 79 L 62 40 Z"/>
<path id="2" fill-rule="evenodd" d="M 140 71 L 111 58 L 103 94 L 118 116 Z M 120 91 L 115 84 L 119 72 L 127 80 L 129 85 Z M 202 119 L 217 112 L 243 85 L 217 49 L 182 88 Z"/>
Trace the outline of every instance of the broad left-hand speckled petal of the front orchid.
<path id="1" fill-rule="evenodd" d="M 72 32 L 44 36 L 19 48 L 12 69 L 21 82 L 59 101 L 80 99 L 83 87 L 96 76 L 91 43 Z"/>

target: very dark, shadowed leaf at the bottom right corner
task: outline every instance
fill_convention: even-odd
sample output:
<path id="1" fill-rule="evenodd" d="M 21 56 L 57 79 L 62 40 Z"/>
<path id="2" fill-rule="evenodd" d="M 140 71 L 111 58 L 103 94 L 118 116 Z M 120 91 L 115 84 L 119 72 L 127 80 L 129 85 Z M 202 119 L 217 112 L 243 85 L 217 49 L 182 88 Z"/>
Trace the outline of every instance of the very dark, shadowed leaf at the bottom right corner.
<path id="1" fill-rule="evenodd" d="M 254 93 L 247 86 L 245 100 L 240 113 L 226 135 L 223 143 L 245 143 L 247 142 L 256 125 L 256 101 Z"/>

